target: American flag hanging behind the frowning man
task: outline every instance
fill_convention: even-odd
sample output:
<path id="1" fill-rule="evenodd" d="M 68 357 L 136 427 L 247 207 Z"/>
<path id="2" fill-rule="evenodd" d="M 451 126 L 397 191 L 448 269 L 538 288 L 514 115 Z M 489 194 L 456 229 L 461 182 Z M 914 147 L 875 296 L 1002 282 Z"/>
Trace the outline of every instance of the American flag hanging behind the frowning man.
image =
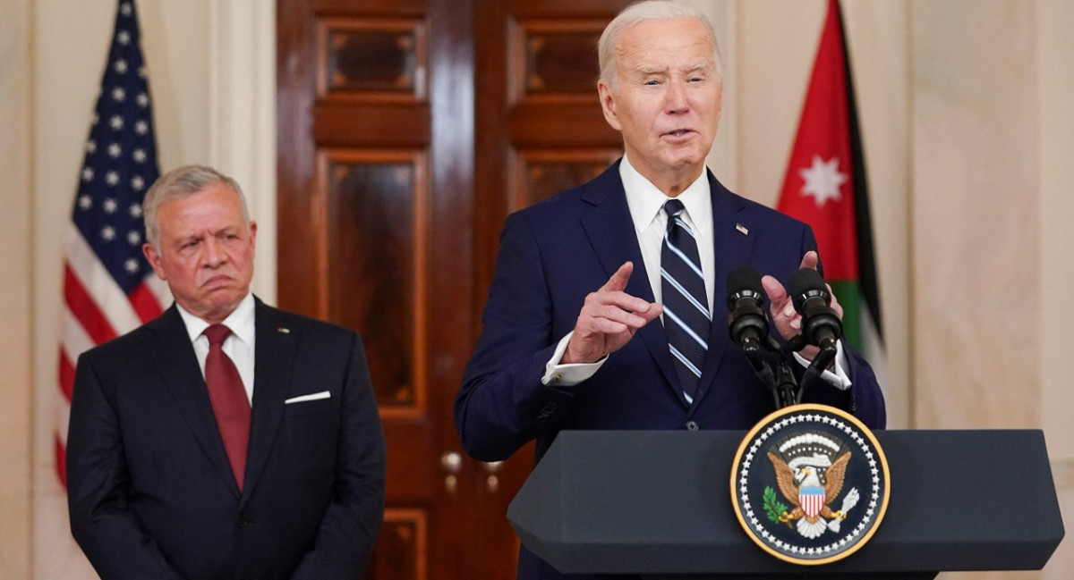
<path id="1" fill-rule="evenodd" d="M 64 485 L 78 355 L 155 318 L 171 301 L 142 255 L 142 199 L 159 175 L 137 14 L 133 0 L 120 0 L 64 246 L 56 426 L 56 469 Z"/>

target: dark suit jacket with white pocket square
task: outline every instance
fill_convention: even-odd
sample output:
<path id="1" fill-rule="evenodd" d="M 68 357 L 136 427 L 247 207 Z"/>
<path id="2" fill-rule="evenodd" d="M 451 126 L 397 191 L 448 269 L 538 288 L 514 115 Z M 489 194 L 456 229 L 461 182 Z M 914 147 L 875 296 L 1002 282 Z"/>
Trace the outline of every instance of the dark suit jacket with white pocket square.
<path id="1" fill-rule="evenodd" d="M 361 578 L 384 506 L 361 339 L 260 300 L 255 324 L 242 493 L 176 307 L 79 357 L 68 501 L 104 580 Z"/>

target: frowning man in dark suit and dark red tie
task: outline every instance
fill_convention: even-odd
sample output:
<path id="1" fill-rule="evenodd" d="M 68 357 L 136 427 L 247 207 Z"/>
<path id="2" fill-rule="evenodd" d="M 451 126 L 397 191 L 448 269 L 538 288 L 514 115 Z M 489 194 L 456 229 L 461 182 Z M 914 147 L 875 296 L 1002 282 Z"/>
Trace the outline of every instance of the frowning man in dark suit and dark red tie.
<path id="1" fill-rule="evenodd" d="M 231 178 L 175 169 L 145 217 L 175 304 L 78 359 L 75 539 L 104 580 L 361 578 L 384 508 L 361 339 L 250 294 L 257 224 Z"/>

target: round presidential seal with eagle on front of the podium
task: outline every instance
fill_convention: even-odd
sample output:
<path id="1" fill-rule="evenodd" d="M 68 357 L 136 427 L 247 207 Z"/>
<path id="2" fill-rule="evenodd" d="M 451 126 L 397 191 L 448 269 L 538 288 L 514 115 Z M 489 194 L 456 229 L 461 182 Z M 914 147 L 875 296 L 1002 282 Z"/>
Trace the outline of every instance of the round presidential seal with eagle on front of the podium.
<path id="1" fill-rule="evenodd" d="M 795 564 L 842 560 L 872 537 L 890 492 L 872 432 L 834 407 L 801 404 L 761 419 L 731 466 L 731 503 L 745 533 Z"/>

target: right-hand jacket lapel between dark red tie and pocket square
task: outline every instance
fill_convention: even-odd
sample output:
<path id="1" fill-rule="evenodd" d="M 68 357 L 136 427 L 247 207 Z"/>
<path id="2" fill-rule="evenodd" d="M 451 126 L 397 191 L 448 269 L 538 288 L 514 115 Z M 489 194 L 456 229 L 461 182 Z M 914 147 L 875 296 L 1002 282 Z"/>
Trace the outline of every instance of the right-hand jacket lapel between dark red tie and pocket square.
<path id="1" fill-rule="evenodd" d="M 257 299 L 253 410 L 250 416 L 250 446 L 246 455 L 244 502 L 260 480 L 284 416 L 284 400 L 290 386 L 300 339 L 297 332 L 297 329 L 287 325 L 287 315 L 282 311 Z"/>

